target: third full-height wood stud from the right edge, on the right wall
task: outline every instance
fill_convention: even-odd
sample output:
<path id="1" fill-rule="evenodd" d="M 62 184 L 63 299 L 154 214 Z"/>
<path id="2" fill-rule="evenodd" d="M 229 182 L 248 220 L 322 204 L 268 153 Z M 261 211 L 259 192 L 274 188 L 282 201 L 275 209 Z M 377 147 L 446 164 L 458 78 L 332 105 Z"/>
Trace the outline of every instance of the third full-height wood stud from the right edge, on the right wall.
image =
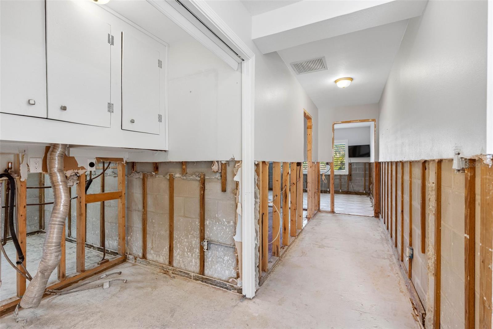
<path id="1" fill-rule="evenodd" d="M 434 306 L 433 324 L 434 328 L 440 328 L 440 300 L 441 300 L 441 280 L 442 280 L 442 161 L 437 160 L 435 172 L 435 287 L 434 287 Z M 490 259 L 491 261 L 491 259 Z M 490 287 L 491 288 L 491 287 Z M 491 291 L 491 289 L 490 289 Z M 491 296 L 491 295 L 490 295 Z M 490 298 L 491 300 L 491 298 Z M 491 327 L 490 327 L 491 328 Z"/>

